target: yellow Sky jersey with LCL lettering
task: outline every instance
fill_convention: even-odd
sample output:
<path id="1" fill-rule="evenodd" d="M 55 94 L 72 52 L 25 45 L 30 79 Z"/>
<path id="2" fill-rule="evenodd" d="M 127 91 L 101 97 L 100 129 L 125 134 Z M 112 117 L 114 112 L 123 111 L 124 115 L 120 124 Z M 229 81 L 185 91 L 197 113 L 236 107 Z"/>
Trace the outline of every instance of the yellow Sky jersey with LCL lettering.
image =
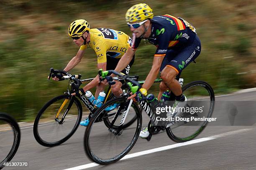
<path id="1" fill-rule="evenodd" d="M 97 55 L 97 62 L 107 62 L 107 56 L 121 58 L 131 47 L 131 38 L 124 32 L 108 28 L 90 29 L 90 42 L 82 45 L 80 50 L 85 50 L 87 46 L 92 47 Z"/>

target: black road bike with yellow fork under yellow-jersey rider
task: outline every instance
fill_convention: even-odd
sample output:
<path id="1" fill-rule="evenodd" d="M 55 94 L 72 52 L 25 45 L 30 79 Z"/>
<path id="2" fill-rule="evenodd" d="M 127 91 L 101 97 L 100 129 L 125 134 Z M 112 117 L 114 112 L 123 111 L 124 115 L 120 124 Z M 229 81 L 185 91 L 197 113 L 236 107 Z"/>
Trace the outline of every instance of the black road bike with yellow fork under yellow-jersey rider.
<path id="1" fill-rule="evenodd" d="M 50 77 L 55 77 L 58 74 L 61 74 L 59 80 L 69 80 L 67 91 L 64 92 L 64 95 L 59 95 L 49 100 L 41 110 L 39 110 L 33 125 L 33 134 L 36 141 L 46 147 L 60 145 L 75 133 L 82 119 L 82 105 L 80 101 L 84 103 L 90 111 L 89 118 L 92 117 L 98 109 L 85 95 L 71 95 L 78 90 L 81 84 L 91 82 L 93 78 L 80 80 L 82 75 L 72 75 L 63 70 L 54 70 L 51 68 L 48 80 L 50 80 Z M 64 76 L 62 77 L 62 75 Z M 136 76 L 133 76 L 133 78 L 136 79 Z M 110 86 L 106 94 L 107 96 L 103 103 L 114 97 Z M 109 111 L 104 110 L 104 114 L 108 116 L 100 118 L 104 120 L 106 126 L 110 125 L 108 117 L 113 116 L 113 113 L 109 112 L 108 114 L 108 112 Z M 127 128 L 135 120 L 135 116 L 130 117 L 130 120 L 128 120 L 123 127 Z"/>

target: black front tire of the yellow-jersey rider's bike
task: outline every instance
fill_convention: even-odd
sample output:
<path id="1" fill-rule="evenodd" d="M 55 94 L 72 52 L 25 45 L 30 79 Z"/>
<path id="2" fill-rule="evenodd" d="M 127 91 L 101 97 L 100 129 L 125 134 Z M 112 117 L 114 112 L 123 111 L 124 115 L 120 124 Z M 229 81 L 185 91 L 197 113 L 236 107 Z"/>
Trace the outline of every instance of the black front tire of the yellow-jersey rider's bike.
<path id="1" fill-rule="evenodd" d="M 43 113 L 46 111 L 46 109 L 48 107 L 50 107 L 52 104 L 54 104 L 55 102 L 57 102 L 57 101 L 59 101 L 61 99 L 68 99 L 68 98 L 69 98 L 68 95 L 59 95 L 57 97 L 54 97 L 53 99 L 49 100 L 49 102 L 47 102 L 41 108 L 41 110 L 38 112 L 38 114 L 36 116 L 36 119 L 35 119 L 35 122 L 34 122 L 34 125 L 33 125 L 33 134 L 34 134 L 34 137 L 35 137 L 36 141 L 39 144 L 41 144 L 43 146 L 46 146 L 46 147 L 53 147 L 53 146 L 60 145 L 61 143 L 66 142 L 75 133 L 75 131 L 77 130 L 77 128 L 79 126 L 79 123 L 81 122 L 81 119 L 82 119 L 82 105 L 81 105 L 80 101 L 77 99 L 77 97 L 73 97 L 74 98 L 73 105 L 75 104 L 76 107 L 77 107 L 78 116 L 77 116 L 77 121 L 76 121 L 74 127 L 72 128 L 71 132 L 67 136 L 62 138 L 61 140 L 58 140 L 58 141 L 55 141 L 55 142 L 47 142 L 46 140 L 43 140 L 40 137 L 40 134 L 38 133 L 39 120 L 40 120 L 41 116 L 43 115 Z"/>

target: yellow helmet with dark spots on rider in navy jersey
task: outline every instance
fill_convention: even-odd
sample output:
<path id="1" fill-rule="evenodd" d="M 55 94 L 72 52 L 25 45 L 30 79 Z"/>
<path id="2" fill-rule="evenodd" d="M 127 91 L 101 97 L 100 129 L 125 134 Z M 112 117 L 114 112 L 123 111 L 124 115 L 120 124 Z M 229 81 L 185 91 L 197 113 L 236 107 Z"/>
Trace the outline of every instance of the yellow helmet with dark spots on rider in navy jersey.
<path id="1" fill-rule="evenodd" d="M 154 14 L 152 9 L 145 3 L 139 3 L 130 7 L 125 14 L 127 22 L 141 22 L 146 19 L 152 19 Z"/>

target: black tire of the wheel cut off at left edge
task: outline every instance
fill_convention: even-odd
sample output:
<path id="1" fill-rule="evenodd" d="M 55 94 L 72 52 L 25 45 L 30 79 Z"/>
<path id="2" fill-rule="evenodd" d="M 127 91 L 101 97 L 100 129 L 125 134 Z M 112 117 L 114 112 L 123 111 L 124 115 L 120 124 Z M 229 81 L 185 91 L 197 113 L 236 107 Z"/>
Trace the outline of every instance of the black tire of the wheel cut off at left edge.
<path id="1" fill-rule="evenodd" d="M 15 121 L 15 119 L 13 117 L 11 117 L 10 115 L 0 112 L 0 120 L 3 120 L 5 122 L 7 122 L 13 130 L 13 134 L 14 134 L 14 140 L 13 140 L 13 145 L 12 148 L 10 150 L 10 152 L 8 153 L 8 155 L 1 160 L 0 162 L 0 169 L 3 168 L 3 164 L 5 162 L 8 162 L 10 160 L 12 160 L 12 158 L 14 157 L 15 153 L 17 152 L 19 145 L 20 145 L 20 128 L 18 123 Z M 2 159 L 2 158 L 1 158 Z"/>

